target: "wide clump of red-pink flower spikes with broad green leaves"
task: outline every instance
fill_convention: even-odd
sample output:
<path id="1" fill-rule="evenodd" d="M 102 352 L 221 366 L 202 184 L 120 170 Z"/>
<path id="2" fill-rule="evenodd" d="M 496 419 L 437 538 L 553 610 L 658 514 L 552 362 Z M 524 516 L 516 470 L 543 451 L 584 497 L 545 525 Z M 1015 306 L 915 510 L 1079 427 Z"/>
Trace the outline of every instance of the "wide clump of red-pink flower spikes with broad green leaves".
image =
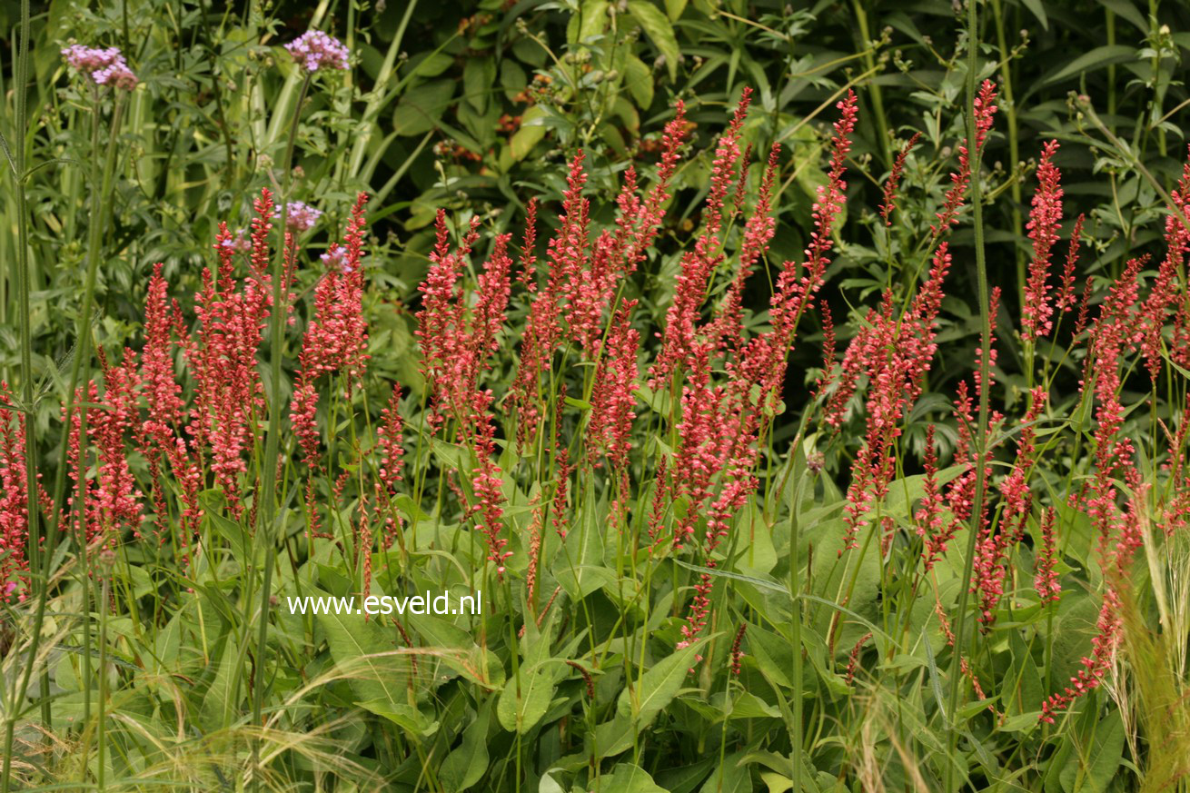
<path id="1" fill-rule="evenodd" d="M 303 79 L 346 64 L 324 36 L 289 49 Z M 657 717 L 641 710 L 658 676 L 646 668 L 691 712 L 739 703 L 759 714 L 720 719 L 721 736 L 741 732 L 731 722 L 784 729 L 787 712 L 796 732 L 814 687 L 809 717 L 832 724 L 895 668 L 879 685 L 898 694 L 951 675 L 971 701 L 937 711 L 946 719 L 1046 739 L 1044 724 L 1120 691 L 1135 560 L 1188 525 L 1178 341 L 1190 167 L 1161 250 L 1136 251 L 1109 283 L 1086 281 L 1090 232 L 1064 217 L 1063 150 L 1042 144 L 1027 281 L 990 291 L 990 332 L 973 339 L 951 293 L 970 269 L 952 232 L 995 133 L 997 87 L 985 82 L 977 100 L 948 175 L 929 181 L 916 160 L 928 144 L 912 135 L 887 174 L 871 174 L 878 217 L 850 212 L 877 241 L 913 238 L 866 302 L 840 275 L 868 255 L 843 242 L 854 233 L 845 208 L 868 191 L 854 176 L 866 161 L 851 90 L 827 105 L 823 179 L 804 217 L 782 200 L 804 154 L 771 144 L 753 156 L 764 125 L 750 125 L 752 92 L 701 154 L 678 101 L 656 161 L 625 168 L 605 196 L 594 154 L 575 150 L 564 186 L 524 218 L 489 227 L 439 211 L 425 276 L 383 327 L 369 320 L 392 295 L 370 276 L 392 263 L 369 252 L 368 196 L 343 207 L 334 233 L 332 205 L 261 191 L 246 233 L 219 225 L 196 293 L 175 294 L 155 267 L 143 338 L 96 350 L 94 376 L 68 391 L 65 486 L 37 501 L 62 530 L 55 539 L 92 561 L 77 583 L 54 586 L 108 587 L 106 619 L 124 607 L 109 598 L 113 570 L 142 567 L 150 577 L 121 595 L 130 610 L 150 580 L 175 613 L 214 602 L 195 612 L 233 623 L 242 644 L 263 626 L 255 650 L 225 642 L 234 647 L 219 657 L 242 661 L 230 691 L 264 698 L 299 669 L 301 686 L 333 694 L 327 708 L 402 730 L 383 747 L 402 762 L 452 729 L 421 719 L 441 700 L 488 708 L 461 745 L 443 738 L 451 755 L 474 753 L 496 723 L 519 745 L 556 713 L 558 733 L 583 747 L 570 766 L 590 768 Z M 684 163 L 704 167 L 706 195 L 675 220 L 675 199 L 694 192 L 682 192 Z M 804 246 L 785 261 L 778 235 L 796 224 Z M 402 333 L 416 361 L 396 383 L 386 375 Z M 822 367 L 803 370 L 819 338 Z M 1176 400 L 1147 395 L 1167 386 Z M 992 405 L 987 429 L 979 400 Z M 1159 437 L 1138 432 L 1146 413 Z M 25 417 L 0 386 L 0 597 L 14 606 L 37 581 Z M 430 580 L 482 589 L 490 611 L 349 623 L 277 608 L 307 592 L 420 594 Z M 1052 625 L 1078 598 L 1094 602 L 1094 633 L 1054 661 L 1071 643 L 1056 648 Z M 957 611 L 966 602 L 969 614 Z M 970 641 L 957 616 L 977 624 Z M 215 652 L 223 675 L 233 662 Z M 408 678 L 394 698 L 375 668 L 326 682 L 295 663 L 302 654 L 322 669 L 392 661 Z M 1032 675 L 1027 691 L 1000 674 L 1009 663 Z M 685 670 L 696 676 L 681 680 Z M 790 698 L 734 699 L 770 689 Z M 261 718 L 273 729 L 287 717 Z M 267 733 L 252 724 L 251 741 Z M 818 751 L 807 743 L 781 751 Z M 833 779 L 853 770 L 823 762 Z"/>

